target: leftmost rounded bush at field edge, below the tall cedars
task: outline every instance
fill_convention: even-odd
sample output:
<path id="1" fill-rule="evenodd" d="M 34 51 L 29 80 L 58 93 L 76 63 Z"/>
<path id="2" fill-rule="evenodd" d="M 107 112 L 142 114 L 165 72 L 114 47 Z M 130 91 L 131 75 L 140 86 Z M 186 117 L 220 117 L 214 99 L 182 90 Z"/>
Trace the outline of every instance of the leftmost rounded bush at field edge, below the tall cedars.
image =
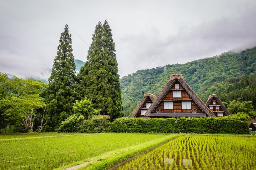
<path id="1" fill-rule="evenodd" d="M 66 120 L 60 123 L 60 127 L 56 129 L 57 132 L 78 132 L 82 121 L 85 119 L 83 115 L 77 117 L 76 115 L 69 116 Z"/>

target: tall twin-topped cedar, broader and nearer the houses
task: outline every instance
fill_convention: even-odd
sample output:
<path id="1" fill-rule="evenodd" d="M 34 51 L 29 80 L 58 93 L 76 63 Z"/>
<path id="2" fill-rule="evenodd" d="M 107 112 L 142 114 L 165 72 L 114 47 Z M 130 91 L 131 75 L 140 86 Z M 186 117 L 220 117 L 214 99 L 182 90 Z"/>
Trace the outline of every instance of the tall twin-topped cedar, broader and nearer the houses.
<path id="1" fill-rule="evenodd" d="M 110 119 L 122 117 L 121 88 L 115 55 L 115 43 L 107 21 L 96 25 L 88 50 L 87 61 L 78 75 L 79 94 L 92 100 L 100 114 Z"/>

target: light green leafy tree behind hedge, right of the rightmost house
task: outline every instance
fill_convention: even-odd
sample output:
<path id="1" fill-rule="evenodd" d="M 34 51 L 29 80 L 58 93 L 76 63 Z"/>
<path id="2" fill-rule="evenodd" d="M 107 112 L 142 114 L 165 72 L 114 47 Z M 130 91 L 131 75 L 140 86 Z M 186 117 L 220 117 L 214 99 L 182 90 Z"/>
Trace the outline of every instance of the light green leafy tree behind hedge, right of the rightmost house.
<path id="1" fill-rule="evenodd" d="M 242 113 L 249 115 L 252 119 L 256 118 L 256 112 L 253 109 L 252 101 L 241 102 L 233 100 L 227 107 L 232 114 Z"/>

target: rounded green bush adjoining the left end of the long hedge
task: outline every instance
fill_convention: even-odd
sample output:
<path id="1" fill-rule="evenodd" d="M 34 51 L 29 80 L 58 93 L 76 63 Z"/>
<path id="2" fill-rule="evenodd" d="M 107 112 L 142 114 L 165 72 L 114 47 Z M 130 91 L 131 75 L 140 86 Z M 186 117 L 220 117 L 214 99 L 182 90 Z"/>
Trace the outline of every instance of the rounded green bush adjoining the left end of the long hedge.
<path id="1" fill-rule="evenodd" d="M 82 123 L 80 132 L 82 133 L 103 133 L 109 126 L 109 115 L 95 115 L 89 117 Z"/>

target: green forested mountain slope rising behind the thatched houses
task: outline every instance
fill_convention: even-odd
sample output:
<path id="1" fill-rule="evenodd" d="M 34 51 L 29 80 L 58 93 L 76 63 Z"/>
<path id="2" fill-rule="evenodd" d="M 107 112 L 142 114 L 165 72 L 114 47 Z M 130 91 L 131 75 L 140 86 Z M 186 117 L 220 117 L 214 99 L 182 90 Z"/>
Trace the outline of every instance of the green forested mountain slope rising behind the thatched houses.
<path id="1" fill-rule="evenodd" d="M 252 100 L 255 109 L 255 69 L 256 47 L 241 53 L 230 51 L 185 64 L 138 70 L 120 80 L 124 116 L 136 108 L 144 93 L 157 96 L 168 82 L 170 74 L 183 74 L 185 81 L 204 102 L 210 94 L 215 93 L 224 102 Z"/>

